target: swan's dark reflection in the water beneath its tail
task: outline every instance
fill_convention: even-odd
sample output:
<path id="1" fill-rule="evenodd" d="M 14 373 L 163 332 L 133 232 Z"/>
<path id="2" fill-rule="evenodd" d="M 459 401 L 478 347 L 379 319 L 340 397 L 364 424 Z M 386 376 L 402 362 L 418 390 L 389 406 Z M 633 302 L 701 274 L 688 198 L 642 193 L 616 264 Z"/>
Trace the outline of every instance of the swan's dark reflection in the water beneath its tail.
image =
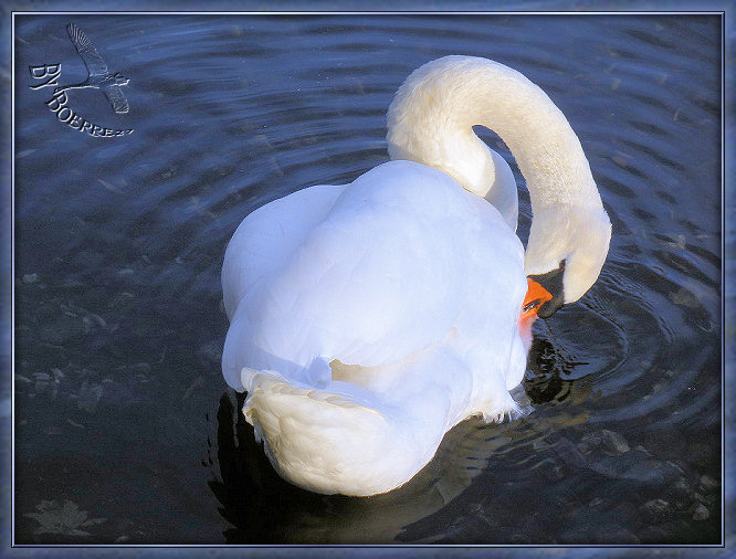
<path id="1" fill-rule="evenodd" d="M 515 398 L 524 398 L 516 392 Z M 383 544 L 404 527 L 446 506 L 483 472 L 508 442 L 514 422 L 484 426 L 471 419 L 455 426 L 419 474 L 402 487 L 374 497 L 316 495 L 283 481 L 253 437 L 253 428 L 224 394 L 218 409 L 220 477 L 210 487 L 233 525 L 230 544 Z M 401 538 L 399 538 L 401 539 Z"/>

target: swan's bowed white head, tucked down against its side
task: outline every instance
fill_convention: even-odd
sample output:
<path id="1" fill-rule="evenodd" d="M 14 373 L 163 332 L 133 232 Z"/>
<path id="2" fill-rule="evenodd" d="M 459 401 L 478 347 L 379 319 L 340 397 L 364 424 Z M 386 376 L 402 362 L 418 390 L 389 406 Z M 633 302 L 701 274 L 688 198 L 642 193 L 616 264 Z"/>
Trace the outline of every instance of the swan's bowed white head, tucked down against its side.
<path id="1" fill-rule="evenodd" d="M 551 294 L 538 307 L 539 316 L 549 317 L 582 297 L 598 280 L 610 240 L 611 221 L 600 201 L 590 207 L 554 204 L 534 212 L 526 274 Z"/>

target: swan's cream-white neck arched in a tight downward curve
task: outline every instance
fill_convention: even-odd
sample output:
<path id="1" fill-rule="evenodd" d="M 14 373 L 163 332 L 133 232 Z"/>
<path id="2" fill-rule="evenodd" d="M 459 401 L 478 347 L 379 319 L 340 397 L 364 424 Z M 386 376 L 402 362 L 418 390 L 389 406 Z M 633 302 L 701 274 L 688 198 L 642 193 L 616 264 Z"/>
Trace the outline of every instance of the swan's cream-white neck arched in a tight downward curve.
<path id="1" fill-rule="evenodd" d="M 534 213 L 556 204 L 602 207 L 562 113 L 524 75 L 486 59 L 444 56 L 413 72 L 389 108 L 389 154 L 435 167 L 485 196 L 494 165 L 473 125 L 491 128 L 506 143 Z"/>

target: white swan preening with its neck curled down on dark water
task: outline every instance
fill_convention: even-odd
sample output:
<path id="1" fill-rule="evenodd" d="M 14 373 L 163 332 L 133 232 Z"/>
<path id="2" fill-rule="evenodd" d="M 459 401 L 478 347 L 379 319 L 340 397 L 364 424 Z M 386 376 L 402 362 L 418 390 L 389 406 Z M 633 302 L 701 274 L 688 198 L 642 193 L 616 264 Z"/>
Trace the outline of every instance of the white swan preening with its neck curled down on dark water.
<path id="1" fill-rule="evenodd" d="M 526 254 L 513 175 L 475 124 L 526 179 Z M 551 292 L 548 315 L 592 285 L 608 252 L 580 143 L 518 72 L 469 56 L 423 65 L 389 108 L 388 141 L 393 160 L 351 183 L 252 212 L 224 256 L 224 378 L 248 391 L 276 471 L 317 493 L 393 489 L 460 421 L 512 414 L 534 318 L 519 320 L 527 275 Z"/>

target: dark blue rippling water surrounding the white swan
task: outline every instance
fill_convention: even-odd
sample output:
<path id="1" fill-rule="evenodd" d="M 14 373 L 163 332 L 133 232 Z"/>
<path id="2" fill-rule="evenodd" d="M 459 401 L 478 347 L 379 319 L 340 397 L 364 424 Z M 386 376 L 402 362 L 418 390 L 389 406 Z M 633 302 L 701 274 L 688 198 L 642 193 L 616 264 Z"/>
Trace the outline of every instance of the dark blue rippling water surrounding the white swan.
<path id="1" fill-rule="evenodd" d="M 30 88 L 29 65 L 86 77 L 72 20 L 130 110 L 98 89 L 70 107 L 133 134 L 76 131 Z M 18 17 L 17 541 L 719 542 L 719 38 L 703 15 Z M 461 424 L 397 492 L 312 495 L 222 380 L 225 244 L 255 208 L 386 161 L 393 92 L 445 54 L 558 104 L 611 251 L 535 326 L 528 416 Z"/>

